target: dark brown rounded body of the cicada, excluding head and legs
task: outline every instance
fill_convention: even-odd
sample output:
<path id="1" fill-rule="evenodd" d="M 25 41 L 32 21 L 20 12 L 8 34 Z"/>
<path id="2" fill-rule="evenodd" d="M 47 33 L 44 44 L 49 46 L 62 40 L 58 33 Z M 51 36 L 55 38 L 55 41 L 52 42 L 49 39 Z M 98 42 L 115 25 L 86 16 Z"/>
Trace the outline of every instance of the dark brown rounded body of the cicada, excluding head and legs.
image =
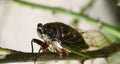
<path id="1" fill-rule="evenodd" d="M 66 45 L 74 50 L 81 51 L 88 48 L 82 35 L 72 27 L 53 22 L 44 25 L 45 33 L 51 40 L 61 41 L 61 46 Z"/>

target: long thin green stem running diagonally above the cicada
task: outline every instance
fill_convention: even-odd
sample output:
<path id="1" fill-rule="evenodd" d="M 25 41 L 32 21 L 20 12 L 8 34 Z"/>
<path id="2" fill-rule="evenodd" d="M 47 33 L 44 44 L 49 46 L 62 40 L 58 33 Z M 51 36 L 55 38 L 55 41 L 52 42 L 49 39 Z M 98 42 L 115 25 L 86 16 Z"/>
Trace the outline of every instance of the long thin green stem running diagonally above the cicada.
<path id="1" fill-rule="evenodd" d="M 23 1 L 23 0 L 12 0 L 12 1 L 14 1 L 16 3 L 20 3 L 20 4 L 25 5 L 25 6 L 30 6 L 30 7 L 34 7 L 34 8 L 38 8 L 38 9 L 44 9 L 47 11 L 54 11 L 54 12 L 63 13 L 63 14 L 69 15 L 75 19 L 86 20 L 87 22 L 91 23 L 92 25 L 99 27 L 98 26 L 98 24 L 100 23 L 99 20 L 88 17 L 87 15 L 82 14 L 82 13 L 79 14 L 79 13 L 67 11 L 67 10 L 62 9 L 62 8 L 50 7 L 50 6 L 45 6 L 45 5 L 41 5 L 41 4 L 30 3 L 30 2 Z M 110 34 L 114 35 L 117 38 L 120 38 L 120 36 L 119 36 L 120 35 L 120 28 L 116 28 L 114 26 L 103 23 L 102 30 L 104 30 L 106 32 L 110 32 Z"/>

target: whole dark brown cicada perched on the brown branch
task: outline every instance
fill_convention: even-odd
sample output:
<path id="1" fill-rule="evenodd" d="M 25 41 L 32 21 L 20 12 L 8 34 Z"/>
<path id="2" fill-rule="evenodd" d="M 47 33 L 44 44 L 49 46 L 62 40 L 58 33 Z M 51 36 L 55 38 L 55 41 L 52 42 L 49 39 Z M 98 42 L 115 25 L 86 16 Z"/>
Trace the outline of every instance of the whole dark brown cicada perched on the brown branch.
<path id="1" fill-rule="evenodd" d="M 96 44 L 93 35 L 95 32 L 80 31 L 72 28 L 71 26 L 61 23 L 61 22 L 51 22 L 46 24 L 39 23 L 37 25 L 37 34 L 43 40 L 32 39 L 32 52 L 33 52 L 33 42 L 40 45 L 40 51 L 49 50 L 51 52 L 58 53 L 62 57 L 63 53 L 69 55 L 69 52 L 74 54 L 89 57 L 87 55 L 81 54 L 80 52 L 85 52 L 89 49 L 92 44 Z M 99 36 L 99 35 L 98 35 Z M 91 37 L 91 38 L 89 38 Z M 88 40 L 92 39 L 92 40 Z M 91 43 L 87 43 L 91 42 Z M 101 43 L 99 43 L 101 44 Z M 91 45 L 97 47 L 97 45 Z"/>

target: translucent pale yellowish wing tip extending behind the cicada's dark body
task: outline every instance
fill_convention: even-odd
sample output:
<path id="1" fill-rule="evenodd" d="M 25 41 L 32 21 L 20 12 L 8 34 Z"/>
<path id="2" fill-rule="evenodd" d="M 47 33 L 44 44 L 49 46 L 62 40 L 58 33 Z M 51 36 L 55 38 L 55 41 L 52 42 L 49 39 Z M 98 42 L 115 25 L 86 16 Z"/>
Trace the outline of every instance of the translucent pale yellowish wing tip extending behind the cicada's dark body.
<path id="1" fill-rule="evenodd" d="M 91 50 L 100 49 L 111 44 L 107 37 L 100 31 L 83 31 L 79 30 L 85 42 Z"/>

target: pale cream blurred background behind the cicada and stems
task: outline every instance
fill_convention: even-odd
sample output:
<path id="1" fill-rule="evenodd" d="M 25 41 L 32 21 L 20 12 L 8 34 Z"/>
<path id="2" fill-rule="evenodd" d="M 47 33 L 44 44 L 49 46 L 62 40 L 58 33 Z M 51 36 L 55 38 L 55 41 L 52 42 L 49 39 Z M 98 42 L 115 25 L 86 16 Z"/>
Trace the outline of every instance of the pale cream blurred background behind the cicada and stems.
<path id="1" fill-rule="evenodd" d="M 98 19 L 102 22 L 118 27 L 119 14 L 116 2 L 114 0 L 94 0 L 94 3 L 85 11 L 83 8 L 90 0 L 24 0 L 31 3 L 47 5 L 51 7 L 60 7 L 68 11 L 84 14 Z M 27 7 L 18 4 L 13 0 L 0 0 L 0 47 L 14 49 L 23 52 L 31 52 L 32 38 L 38 38 L 36 28 L 38 23 L 48 22 L 63 22 L 65 24 L 74 26 L 75 19 L 71 16 L 56 13 L 54 11 L 46 11 L 34 7 Z M 78 20 L 77 28 L 93 30 L 97 29 L 95 26 Z M 83 21 L 83 22 L 81 22 Z M 38 47 L 35 47 L 38 50 Z M 111 64 L 120 64 L 120 53 L 110 58 Z M 113 59 L 114 58 L 114 59 Z M 104 58 L 96 59 L 94 64 L 107 64 Z M 26 64 L 33 64 L 32 62 L 25 62 Z M 20 64 L 25 64 L 20 63 Z M 79 64 L 78 61 L 58 61 L 58 62 L 43 62 L 48 64 Z M 15 64 L 15 63 L 7 63 Z M 16 63 L 18 64 L 18 63 Z M 41 63 L 42 64 L 42 63 Z M 91 61 L 86 61 L 85 64 L 91 64 Z"/>

